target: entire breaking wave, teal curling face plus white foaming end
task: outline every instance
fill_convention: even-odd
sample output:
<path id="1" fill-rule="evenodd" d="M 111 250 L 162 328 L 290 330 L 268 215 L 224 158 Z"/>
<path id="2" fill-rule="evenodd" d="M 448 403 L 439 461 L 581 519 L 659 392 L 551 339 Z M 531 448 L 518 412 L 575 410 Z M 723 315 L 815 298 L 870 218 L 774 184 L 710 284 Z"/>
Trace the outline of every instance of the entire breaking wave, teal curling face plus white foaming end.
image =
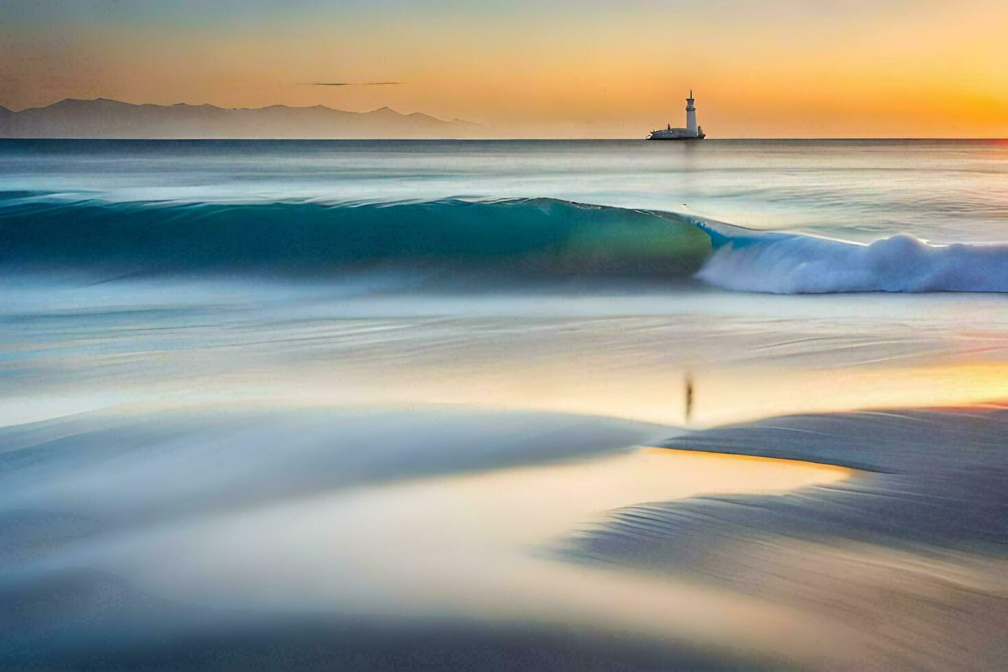
<path id="1" fill-rule="evenodd" d="M 474 274 L 505 282 L 696 275 L 778 294 L 1006 292 L 1008 245 L 906 235 L 865 245 L 556 198 L 179 204 L 8 191 L 0 269 L 94 279 L 418 271 L 455 284 Z"/>

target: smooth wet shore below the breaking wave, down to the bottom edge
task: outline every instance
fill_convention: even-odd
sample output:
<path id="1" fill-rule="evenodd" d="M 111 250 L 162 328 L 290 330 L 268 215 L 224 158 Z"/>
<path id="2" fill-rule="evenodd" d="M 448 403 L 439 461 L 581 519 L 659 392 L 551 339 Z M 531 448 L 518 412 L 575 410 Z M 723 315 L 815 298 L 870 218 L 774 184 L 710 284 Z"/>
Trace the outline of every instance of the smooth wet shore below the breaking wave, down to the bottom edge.
<path id="1" fill-rule="evenodd" d="M 714 296 L 5 314 L 0 666 L 1003 666 L 992 299 Z"/>

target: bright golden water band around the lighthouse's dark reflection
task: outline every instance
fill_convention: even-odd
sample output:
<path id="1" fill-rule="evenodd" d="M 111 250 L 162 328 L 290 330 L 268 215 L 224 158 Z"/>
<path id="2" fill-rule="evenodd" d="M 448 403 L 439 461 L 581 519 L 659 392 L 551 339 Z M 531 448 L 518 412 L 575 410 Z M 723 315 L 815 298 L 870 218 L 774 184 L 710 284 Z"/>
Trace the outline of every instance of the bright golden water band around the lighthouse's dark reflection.
<path id="1" fill-rule="evenodd" d="M 267 394 L 244 379 L 208 379 L 201 391 L 180 400 L 296 407 L 447 404 L 625 418 L 681 426 L 684 380 L 692 377 L 690 427 L 705 428 L 764 417 L 859 409 L 973 406 L 1008 399 L 1008 364 L 878 366 L 850 369 L 619 368 L 586 370 L 559 365 L 460 367 L 437 371 L 400 370 L 395 386 L 376 385 L 374 376 L 320 372 L 290 388 Z M 262 372 L 260 372 L 262 373 Z M 280 379 L 279 376 L 276 377 Z M 230 383 L 230 384 L 229 384 Z M 242 390 L 241 394 L 236 389 Z M 169 403 L 170 390 L 158 399 Z M 668 432 L 670 433 L 670 432 Z M 655 439 L 662 438 L 656 436 Z"/>

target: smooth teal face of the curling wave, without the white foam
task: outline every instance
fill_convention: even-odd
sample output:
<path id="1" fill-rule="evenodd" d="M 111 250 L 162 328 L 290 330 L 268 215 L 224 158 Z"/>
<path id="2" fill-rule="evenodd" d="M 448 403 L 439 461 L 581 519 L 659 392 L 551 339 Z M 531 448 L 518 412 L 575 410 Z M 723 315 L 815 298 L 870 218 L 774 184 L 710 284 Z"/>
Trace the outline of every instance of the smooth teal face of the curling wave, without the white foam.
<path id="1" fill-rule="evenodd" d="M 177 205 L 5 195 L 0 265 L 9 270 L 684 277 L 711 249 L 708 236 L 673 215 L 549 198 Z"/>

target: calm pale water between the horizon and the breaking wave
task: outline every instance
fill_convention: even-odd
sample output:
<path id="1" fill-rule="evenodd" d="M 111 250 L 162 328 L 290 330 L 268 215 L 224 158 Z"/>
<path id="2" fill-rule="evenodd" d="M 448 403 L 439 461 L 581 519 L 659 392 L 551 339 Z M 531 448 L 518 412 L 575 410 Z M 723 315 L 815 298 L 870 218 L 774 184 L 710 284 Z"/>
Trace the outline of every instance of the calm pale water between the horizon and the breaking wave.
<path id="1" fill-rule="evenodd" d="M 1004 241 L 988 140 L 2 141 L 0 188 L 108 200 L 552 197 L 870 241 Z"/>

